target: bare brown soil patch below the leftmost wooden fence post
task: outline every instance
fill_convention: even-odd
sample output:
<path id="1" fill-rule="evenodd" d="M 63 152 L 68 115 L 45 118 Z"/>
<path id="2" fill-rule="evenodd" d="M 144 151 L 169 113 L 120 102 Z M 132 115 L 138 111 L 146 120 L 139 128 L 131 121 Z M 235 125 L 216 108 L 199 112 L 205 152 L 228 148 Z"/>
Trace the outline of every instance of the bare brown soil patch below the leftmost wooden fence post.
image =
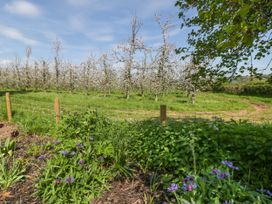
<path id="1" fill-rule="evenodd" d="M 7 137 L 12 137 L 12 133 L 16 133 L 17 136 L 14 138 L 16 140 L 14 157 L 23 162 L 26 172 L 24 180 L 15 183 L 8 189 L 8 191 L 0 191 L 0 203 L 40 203 L 33 193 L 35 190 L 35 182 L 38 179 L 40 170 L 45 166 L 46 160 L 37 159 L 37 155 L 32 155 L 29 153 L 29 148 L 31 145 L 45 145 L 52 139 L 36 135 L 20 134 L 16 126 L 12 125 L 6 124 L 3 128 L 5 128 L 5 130 L 1 133 L 5 133 L 5 135 L 4 137 L 1 137 L 1 140 Z M 19 133 L 19 135 L 17 133 Z M 46 158 L 50 158 L 49 153 L 40 153 L 45 154 Z"/>

